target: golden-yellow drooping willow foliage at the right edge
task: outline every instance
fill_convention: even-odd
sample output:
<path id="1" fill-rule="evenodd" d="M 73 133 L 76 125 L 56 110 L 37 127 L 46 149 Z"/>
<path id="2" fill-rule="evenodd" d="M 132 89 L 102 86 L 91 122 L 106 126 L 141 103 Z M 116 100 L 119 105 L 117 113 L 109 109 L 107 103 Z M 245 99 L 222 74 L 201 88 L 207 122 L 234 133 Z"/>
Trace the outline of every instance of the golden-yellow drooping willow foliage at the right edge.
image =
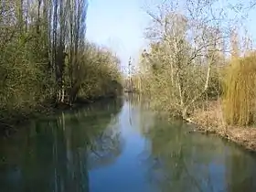
<path id="1" fill-rule="evenodd" d="M 227 123 L 248 125 L 255 120 L 256 55 L 232 59 L 224 79 L 224 114 Z"/>

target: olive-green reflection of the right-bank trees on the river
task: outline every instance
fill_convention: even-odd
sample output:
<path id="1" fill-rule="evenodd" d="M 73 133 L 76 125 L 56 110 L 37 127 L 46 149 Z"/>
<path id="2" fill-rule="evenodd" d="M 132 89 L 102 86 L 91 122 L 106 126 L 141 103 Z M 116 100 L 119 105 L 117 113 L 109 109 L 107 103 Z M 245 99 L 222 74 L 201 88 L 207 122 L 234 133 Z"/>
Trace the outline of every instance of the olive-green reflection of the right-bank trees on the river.
<path id="1" fill-rule="evenodd" d="M 150 116 L 140 99 L 130 97 L 131 119 L 140 123 L 136 127 L 149 141 L 143 165 L 158 191 L 256 191 L 251 155 L 215 136 L 187 133 L 183 122 L 166 123 Z"/>

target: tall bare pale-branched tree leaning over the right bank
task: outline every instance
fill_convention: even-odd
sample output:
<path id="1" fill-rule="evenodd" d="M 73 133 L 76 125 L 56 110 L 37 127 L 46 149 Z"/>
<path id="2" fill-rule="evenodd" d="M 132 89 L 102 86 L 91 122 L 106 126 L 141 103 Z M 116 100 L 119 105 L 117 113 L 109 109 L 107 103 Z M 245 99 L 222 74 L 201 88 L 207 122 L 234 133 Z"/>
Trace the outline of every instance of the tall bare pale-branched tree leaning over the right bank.
<path id="1" fill-rule="evenodd" d="M 222 22 L 223 10 L 213 8 L 216 2 L 187 0 L 183 14 L 177 1 L 165 1 L 156 13 L 147 10 L 152 26 L 145 35 L 152 43 L 144 58 L 153 70 L 152 91 L 157 104 L 171 106 L 169 111 L 187 121 L 187 112 L 208 91 L 219 52 L 224 52 L 221 42 L 230 34 Z"/>

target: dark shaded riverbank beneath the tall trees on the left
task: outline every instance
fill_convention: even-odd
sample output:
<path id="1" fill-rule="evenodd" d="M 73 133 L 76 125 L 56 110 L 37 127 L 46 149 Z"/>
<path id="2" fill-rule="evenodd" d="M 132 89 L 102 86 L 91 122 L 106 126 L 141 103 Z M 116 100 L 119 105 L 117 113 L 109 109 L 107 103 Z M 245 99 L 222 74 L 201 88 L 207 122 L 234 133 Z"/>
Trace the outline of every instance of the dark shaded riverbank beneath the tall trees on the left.
<path id="1" fill-rule="evenodd" d="M 72 105 L 68 103 L 59 103 L 48 101 L 38 105 L 34 109 L 24 111 L 12 111 L 1 112 L 0 119 L 0 136 L 10 136 L 15 133 L 17 126 L 22 125 L 30 121 L 31 119 L 37 119 L 39 117 L 48 117 L 49 115 L 57 112 L 64 112 L 68 110 L 76 110 L 85 105 L 91 104 L 96 101 L 108 100 L 117 97 L 116 95 L 105 95 L 91 98 L 78 98 Z M 4 114 L 5 113 L 5 114 Z"/>

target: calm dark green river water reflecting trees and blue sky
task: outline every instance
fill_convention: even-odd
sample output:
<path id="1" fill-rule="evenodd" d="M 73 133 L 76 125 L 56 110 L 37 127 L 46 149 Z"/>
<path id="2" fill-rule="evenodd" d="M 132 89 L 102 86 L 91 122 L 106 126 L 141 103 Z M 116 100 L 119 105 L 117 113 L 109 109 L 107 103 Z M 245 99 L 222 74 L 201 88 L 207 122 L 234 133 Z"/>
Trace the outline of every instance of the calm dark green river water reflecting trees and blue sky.
<path id="1" fill-rule="evenodd" d="M 32 121 L 0 141 L 1 192 L 255 192 L 256 156 L 135 98 Z"/>

